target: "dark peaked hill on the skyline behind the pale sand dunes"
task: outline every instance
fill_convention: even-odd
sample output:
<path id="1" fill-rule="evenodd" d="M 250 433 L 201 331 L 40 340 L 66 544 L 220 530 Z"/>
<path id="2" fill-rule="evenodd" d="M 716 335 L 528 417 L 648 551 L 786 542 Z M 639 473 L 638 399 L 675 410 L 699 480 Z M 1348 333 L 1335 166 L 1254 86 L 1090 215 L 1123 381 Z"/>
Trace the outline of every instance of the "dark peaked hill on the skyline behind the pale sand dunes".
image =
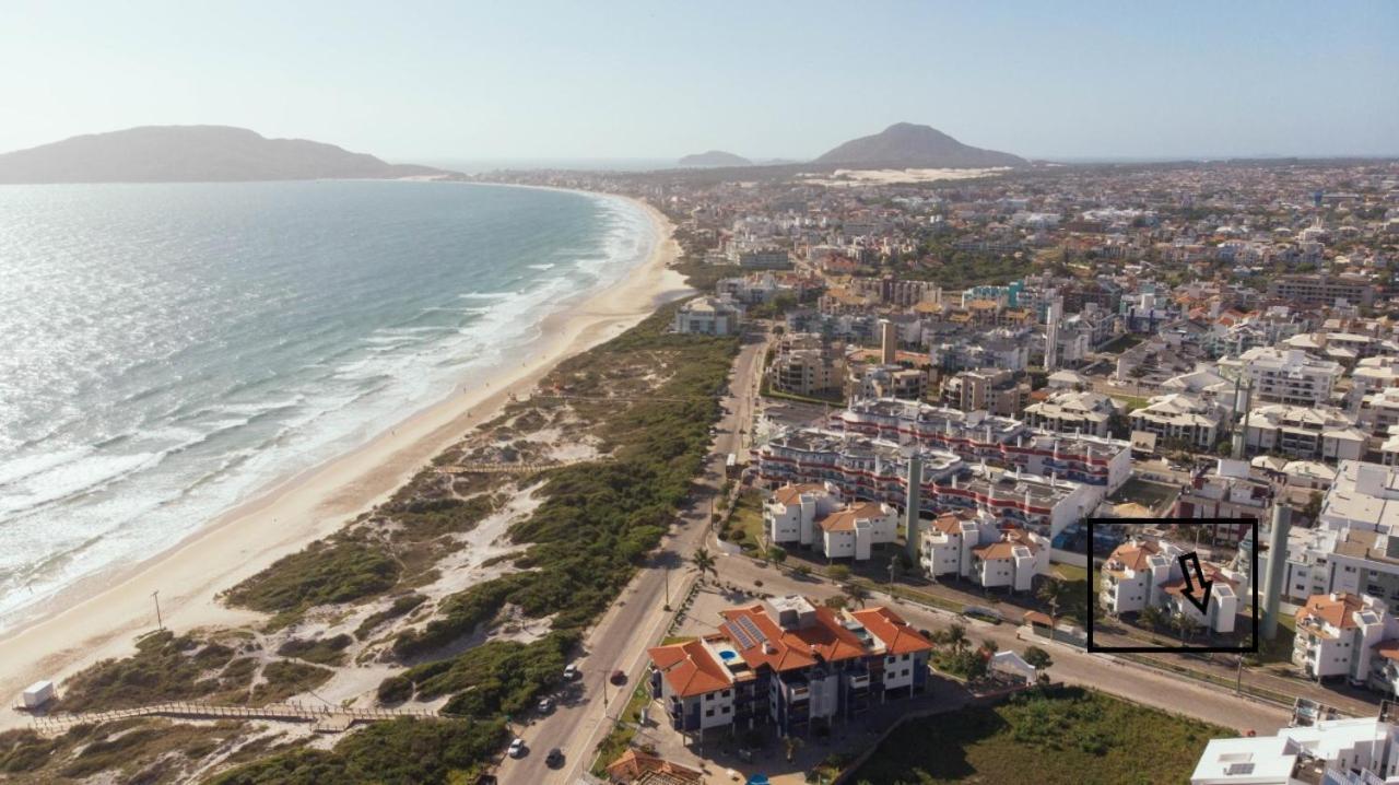
<path id="1" fill-rule="evenodd" d="M 1018 155 L 963 144 L 946 133 L 912 123 L 894 123 L 874 136 L 862 136 L 831 150 L 816 164 L 895 168 L 1024 167 Z"/>

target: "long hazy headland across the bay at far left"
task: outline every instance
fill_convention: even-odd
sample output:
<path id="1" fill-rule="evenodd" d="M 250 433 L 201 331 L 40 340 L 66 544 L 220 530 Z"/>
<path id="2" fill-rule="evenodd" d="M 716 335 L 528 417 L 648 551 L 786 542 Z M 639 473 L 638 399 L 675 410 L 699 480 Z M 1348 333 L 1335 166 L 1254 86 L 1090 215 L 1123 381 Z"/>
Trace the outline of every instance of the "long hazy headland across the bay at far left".
<path id="1" fill-rule="evenodd" d="M 443 169 L 386 164 L 304 139 L 228 126 L 144 126 L 0 155 L 0 183 L 224 182 L 407 178 Z"/>

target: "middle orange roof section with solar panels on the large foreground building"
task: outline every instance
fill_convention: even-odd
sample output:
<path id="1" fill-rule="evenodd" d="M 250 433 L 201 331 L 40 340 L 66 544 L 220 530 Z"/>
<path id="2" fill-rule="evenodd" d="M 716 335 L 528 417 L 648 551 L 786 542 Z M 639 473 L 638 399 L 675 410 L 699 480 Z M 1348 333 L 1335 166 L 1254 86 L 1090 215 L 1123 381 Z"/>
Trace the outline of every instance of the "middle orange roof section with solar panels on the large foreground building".
<path id="1" fill-rule="evenodd" d="M 783 630 L 774 621 L 761 604 L 750 607 L 736 607 L 720 611 L 727 620 L 719 625 L 733 646 L 739 649 L 743 662 L 754 670 L 768 666 L 772 670 L 792 670 L 809 667 L 820 660 L 834 662 L 865 655 L 860 639 L 845 628 L 831 609 L 816 606 L 816 623 L 799 630 Z M 746 635 L 737 635 L 734 624 L 740 617 L 751 620 L 762 641 L 755 641 L 748 648 L 741 648 Z"/>

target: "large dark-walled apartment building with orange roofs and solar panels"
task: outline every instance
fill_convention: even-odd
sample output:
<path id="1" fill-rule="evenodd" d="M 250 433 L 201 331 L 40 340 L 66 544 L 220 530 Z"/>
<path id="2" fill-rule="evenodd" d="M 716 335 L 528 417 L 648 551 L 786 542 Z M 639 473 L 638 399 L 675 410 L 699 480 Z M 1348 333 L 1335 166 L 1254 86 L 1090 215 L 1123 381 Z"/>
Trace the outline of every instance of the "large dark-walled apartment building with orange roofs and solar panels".
<path id="1" fill-rule="evenodd" d="M 720 616 L 715 634 L 648 651 L 652 697 L 683 733 L 772 726 L 804 736 L 928 687 L 933 645 L 888 609 L 785 596 Z"/>

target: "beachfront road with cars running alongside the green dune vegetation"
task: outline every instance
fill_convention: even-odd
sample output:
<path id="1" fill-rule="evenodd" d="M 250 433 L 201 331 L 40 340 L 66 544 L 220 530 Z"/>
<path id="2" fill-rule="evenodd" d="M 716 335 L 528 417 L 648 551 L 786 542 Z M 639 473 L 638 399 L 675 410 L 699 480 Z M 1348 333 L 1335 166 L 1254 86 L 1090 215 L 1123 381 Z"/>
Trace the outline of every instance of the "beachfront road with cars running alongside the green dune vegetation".
<path id="1" fill-rule="evenodd" d="M 695 501 L 681 511 L 680 521 L 662 540 L 652 563 L 637 572 L 621 597 L 589 630 L 583 639 L 585 653 L 578 660 L 582 676 L 575 683 L 575 691 L 561 697 L 548 716 L 534 718 L 527 725 L 516 723 L 513 732 L 525 739 L 529 754 L 505 758 L 497 772 L 502 784 L 571 784 L 592 765 L 597 742 L 611 729 L 638 679 L 644 677 L 646 648 L 665 635 L 670 621 L 670 613 L 665 610 L 667 593 L 672 602 L 677 602 L 695 581 L 687 560 L 709 533 L 711 504 L 725 480 L 726 456 L 739 453 L 740 462 L 746 459 L 743 451 L 753 428 L 767 340 L 767 334 L 750 337 L 734 360 L 715 449 L 700 490 L 693 495 Z M 614 670 L 627 674 L 625 686 L 609 683 Z M 564 764 L 558 768 L 551 768 L 544 760 L 554 747 L 564 753 Z"/>

